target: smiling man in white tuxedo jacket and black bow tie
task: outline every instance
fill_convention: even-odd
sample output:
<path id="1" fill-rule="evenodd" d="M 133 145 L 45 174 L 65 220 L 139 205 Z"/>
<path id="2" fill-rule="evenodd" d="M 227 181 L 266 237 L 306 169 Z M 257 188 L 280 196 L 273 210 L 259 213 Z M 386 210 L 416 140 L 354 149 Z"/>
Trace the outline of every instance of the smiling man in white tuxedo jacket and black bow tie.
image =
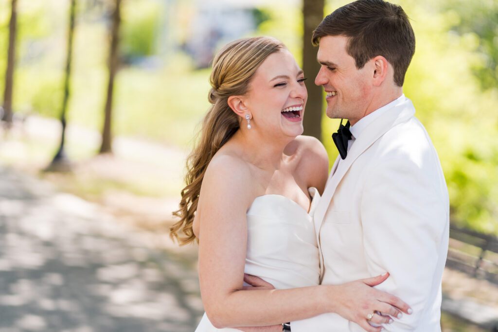
<path id="1" fill-rule="evenodd" d="M 377 289 L 412 315 L 384 331 L 441 331 L 441 278 L 448 250 L 448 191 L 431 139 L 403 94 L 415 37 L 403 9 L 383 0 L 349 3 L 318 25 L 327 116 L 347 119 L 314 219 L 323 284 L 389 272 Z M 351 127 L 349 127 L 351 125 Z M 375 326 L 380 313 L 365 315 Z M 291 322 L 293 332 L 364 331 L 337 314 Z"/>

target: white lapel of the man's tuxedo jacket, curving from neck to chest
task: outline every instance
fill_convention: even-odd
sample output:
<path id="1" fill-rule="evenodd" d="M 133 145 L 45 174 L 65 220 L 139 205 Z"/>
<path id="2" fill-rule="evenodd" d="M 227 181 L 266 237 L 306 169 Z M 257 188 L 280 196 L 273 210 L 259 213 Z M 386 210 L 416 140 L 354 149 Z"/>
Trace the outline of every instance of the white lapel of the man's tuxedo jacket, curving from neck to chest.
<path id="1" fill-rule="evenodd" d="M 313 216 L 317 240 L 319 240 L 320 228 L 336 188 L 353 162 L 390 128 L 407 121 L 414 113 L 415 108 L 409 99 L 401 101 L 399 104 L 393 106 L 373 120 L 373 122 L 364 129 L 360 137 L 358 137 L 351 146 L 348 156 L 341 161 L 340 165 L 338 165 L 340 157 L 337 158 L 334 167 L 332 168 L 331 176 L 327 181 L 327 185 Z"/>

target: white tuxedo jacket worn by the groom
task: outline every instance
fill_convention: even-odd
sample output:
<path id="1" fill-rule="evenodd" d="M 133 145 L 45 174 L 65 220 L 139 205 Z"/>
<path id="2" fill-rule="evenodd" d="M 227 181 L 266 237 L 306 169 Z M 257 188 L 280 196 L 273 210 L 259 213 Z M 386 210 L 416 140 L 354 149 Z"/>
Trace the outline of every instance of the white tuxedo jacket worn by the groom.
<path id="1" fill-rule="evenodd" d="M 399 297 L 413 314 L 384 331 L 440 332 L 448 190 L 414 113 L 411 101 L 400 99 L 361 132 L 346 159 L 336 160 L 314 221 L 323 284 L 389 272 L 375 288 Z M 364 331 L 337 314 L 291 322 L 291 330 Z"/>

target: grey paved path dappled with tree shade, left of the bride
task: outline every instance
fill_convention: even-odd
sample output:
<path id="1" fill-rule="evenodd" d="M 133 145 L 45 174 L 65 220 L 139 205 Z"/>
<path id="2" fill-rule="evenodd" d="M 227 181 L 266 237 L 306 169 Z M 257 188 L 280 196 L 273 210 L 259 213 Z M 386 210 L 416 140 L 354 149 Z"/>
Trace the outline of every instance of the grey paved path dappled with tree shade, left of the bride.
<path id="1" fill-rule="evenodd" d="M 0 332 L 191 332 L 196 256 L 0 167 Z"/>

